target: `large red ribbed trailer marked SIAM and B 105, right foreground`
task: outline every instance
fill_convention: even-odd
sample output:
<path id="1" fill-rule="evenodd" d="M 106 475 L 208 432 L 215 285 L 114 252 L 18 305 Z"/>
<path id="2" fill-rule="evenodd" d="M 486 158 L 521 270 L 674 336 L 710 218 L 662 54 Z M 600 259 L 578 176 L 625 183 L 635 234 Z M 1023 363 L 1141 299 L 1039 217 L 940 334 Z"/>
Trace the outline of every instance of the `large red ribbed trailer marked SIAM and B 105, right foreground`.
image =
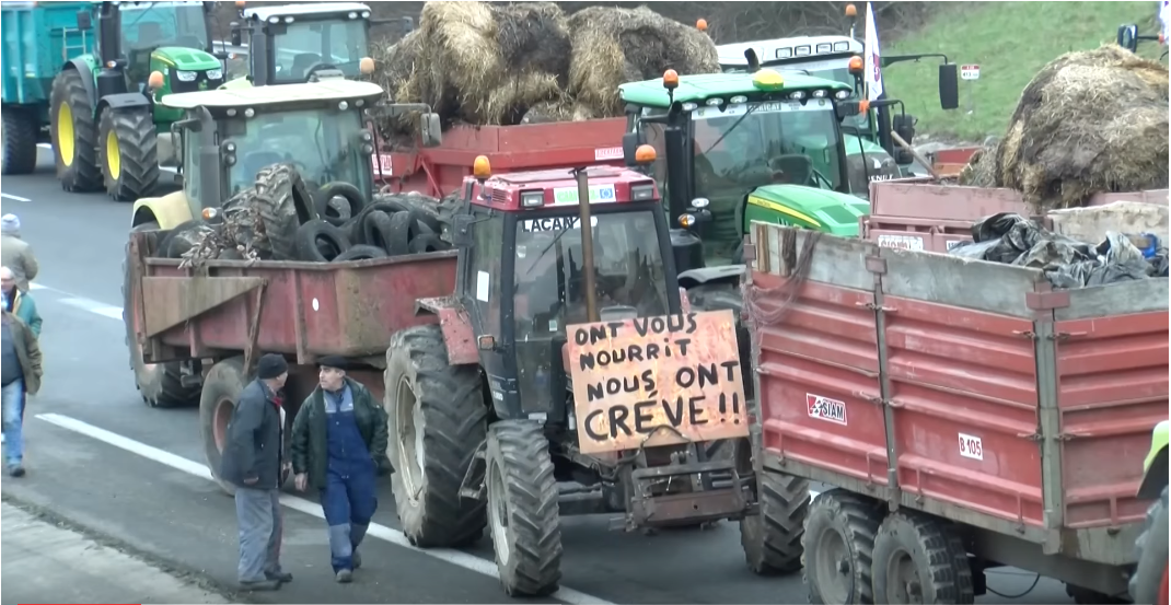
<path id="1" fill-rule="evenodd" d="M 804 520 L 810 603 L 972 603 L 1000 565 L 1127 598 L 1167 418 L 1166 279 L 1054 291 L 775 225 L 751 241 L 760 481 L 836 486 Z"/>

